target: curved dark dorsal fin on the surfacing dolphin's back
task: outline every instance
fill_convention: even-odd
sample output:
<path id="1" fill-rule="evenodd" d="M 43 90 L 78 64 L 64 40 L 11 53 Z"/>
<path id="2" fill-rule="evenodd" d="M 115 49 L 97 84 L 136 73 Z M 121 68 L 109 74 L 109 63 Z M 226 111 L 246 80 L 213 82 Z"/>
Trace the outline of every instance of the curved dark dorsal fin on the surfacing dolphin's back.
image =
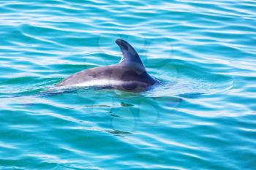
<path id="1" fill-rule="evenodd" d="M 143 69 L 145 69 L 142 61 L 140 60 L 140 56 L 132 45 L 129 45 L 129 43 L 123 39 L 116 39 L 116 44 L 120 47 L 121 53 L 123 54 L 123 58 L 121 59 L 120 63 L 138 63 Z"/>

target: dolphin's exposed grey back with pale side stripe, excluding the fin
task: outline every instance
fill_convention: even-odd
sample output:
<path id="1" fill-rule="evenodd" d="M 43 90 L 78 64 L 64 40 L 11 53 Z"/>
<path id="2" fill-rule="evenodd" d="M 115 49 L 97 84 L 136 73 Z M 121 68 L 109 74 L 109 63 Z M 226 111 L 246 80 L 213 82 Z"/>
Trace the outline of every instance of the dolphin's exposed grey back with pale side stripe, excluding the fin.
<path id="1" fill-rule="evenodd" d="M 59 82 L 57 86 L 77 87 L 111 87 L 121 90 L 131 89 L 138 85 L 147 88 L 153 85 L 155 80 L 147 73 L 127 68 L 119 63 L 111 66 L 101 66 L 77 72 Z"/>

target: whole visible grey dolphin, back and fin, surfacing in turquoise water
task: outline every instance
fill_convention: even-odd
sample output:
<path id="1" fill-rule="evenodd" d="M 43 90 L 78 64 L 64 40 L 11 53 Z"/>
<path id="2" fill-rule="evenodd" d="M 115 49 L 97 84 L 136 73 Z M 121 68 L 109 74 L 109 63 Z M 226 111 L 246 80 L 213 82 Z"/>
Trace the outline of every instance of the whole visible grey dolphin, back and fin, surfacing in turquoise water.
<path id="1" fill-rule="evenodd" d="M 148 90 L 158 81 L 151 77 L 138 53 L 128 42 L 117 39 L 123 58 L 117 64 L 86 69 L 59 82 L 59 86 L 102 87 L 138 92 Z"/>

